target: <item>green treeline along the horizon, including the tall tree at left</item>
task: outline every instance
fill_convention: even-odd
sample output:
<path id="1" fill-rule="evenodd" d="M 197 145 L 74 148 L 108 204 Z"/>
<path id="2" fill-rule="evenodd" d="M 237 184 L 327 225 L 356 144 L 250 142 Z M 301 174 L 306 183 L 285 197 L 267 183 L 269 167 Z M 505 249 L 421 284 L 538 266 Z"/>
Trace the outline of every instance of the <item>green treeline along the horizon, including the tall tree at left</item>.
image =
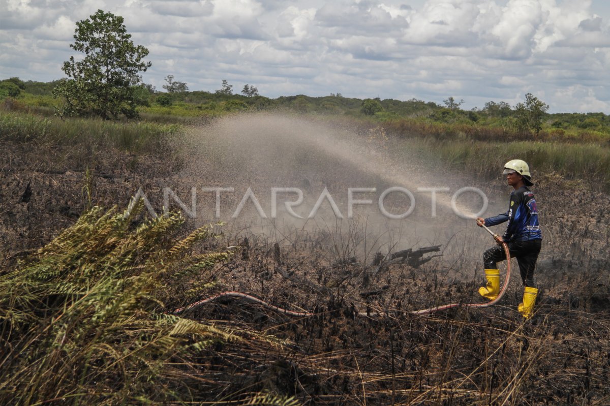
<path id="1" fill-rule="evenodd" d="M 152 62 L 148 49 L 136 45 L 127 34 L 121 16 L 98 10 L 79 21 L 74 30 L 76 52 L 62 66 L 64 79 L 50 83 L 24 82 L 18 77 L 0 81 L 4 110 L 25 110 L 62 118 L 98 117 L 188 123 L 244 110 L 284 110 L 300 114 L 351 116 L 373 125 L 395 129 L 397 135 L 434 135 L 436 138 L 470 135 L 471 138 L 537 139 L 568 138 L 607 142 L 610 119 L 603 113 L 547 113 L 548 105 L 531 93 L 514 106 L 489 101 L 482 109 L 464 110 L 463 100 L 453 96 L 443 104 L 417 99 L 400 101 L 380 98 L 345 98 L 340 93 L 309 97 L 303 94 L 270 99 L 258 88 L 245 84 L 241 91 L 222 80 L 215 91 L 189 91 L 173 74 L 165 77 L 157 91 L 145 84 L 141 73 Z M 100 38 L 104 38 L 101 41 Z M 123 50 L 119 57 L 109 47 Z M 111 48 L 112 48 L 111 47 Z M 91 51 L 93 50 L 93 51 Z M 112 55 L 109 57 L 108 55 Z"/>

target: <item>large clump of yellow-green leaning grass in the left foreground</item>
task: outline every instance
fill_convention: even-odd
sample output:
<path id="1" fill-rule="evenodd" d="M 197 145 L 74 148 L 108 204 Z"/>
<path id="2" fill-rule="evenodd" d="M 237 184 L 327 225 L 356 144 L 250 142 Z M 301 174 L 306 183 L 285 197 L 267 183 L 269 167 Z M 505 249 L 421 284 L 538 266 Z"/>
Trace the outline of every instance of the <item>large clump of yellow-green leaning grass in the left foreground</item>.
<path id="1" fill-rule="evenodd" d="M 242 341 L 245 330 L 182 318 L 165 304 L 205 294 L 209 270 L 230 253 L 195 254 L 198 241 L 214 237 L 210 227 L 176 241 L 181 217 L 138 224 L 141 210 L 94 207 L 32 257 L 0 270 L 0 404 L 206 399 L 213 381 L 193 375 L 190 362 Z M 247 333 L 248 341 L 261 337 Z"/>

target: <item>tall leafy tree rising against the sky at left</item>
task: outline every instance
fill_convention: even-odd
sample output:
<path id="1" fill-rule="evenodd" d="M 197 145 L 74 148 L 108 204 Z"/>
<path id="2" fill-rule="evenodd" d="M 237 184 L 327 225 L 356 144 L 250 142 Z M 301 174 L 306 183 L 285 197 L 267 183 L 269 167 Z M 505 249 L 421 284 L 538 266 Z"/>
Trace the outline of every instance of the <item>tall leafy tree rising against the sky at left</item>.
<path id="1" fill-rule="evenodd" d="M 65 101 L 60 115 L 137 116 L 134 87 L 140 80 L 138 73 L 151 63 L 143 61 L 148 49 L 135 46 L 130 38 L 123 17 L 102 10 L 76 23 L 70 48 L 85 56 L 78 61 L 70 57 L 63 63 L 69 79 L 53 90 L 55 97 Z"/>

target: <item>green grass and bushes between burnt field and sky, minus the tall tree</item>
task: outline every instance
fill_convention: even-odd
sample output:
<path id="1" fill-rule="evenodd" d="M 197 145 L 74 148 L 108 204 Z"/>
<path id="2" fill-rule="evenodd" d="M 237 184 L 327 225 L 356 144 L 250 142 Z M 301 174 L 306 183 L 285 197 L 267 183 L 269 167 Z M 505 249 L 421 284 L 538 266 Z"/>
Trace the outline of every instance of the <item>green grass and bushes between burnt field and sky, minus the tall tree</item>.
<path id="1" fill-rule="evenodd" d="M 490 162 L 519 156 L 531 162 L 537 171 L 590 180 L 610 188 L 610 117 L 604 113 L 548 114 L 545 112 L 548 105 L 529 93 L 514 108 L 503 101 L 489 101 L 483 109 L 462 110 L 463 101 L 453 97 L 447 98 L 444 106 L 417 99 L 362 100 L 341 94 L 270 99 L 256 95 L 258 90 L 252 85 L 246 85 L 243 94 L 234 94 L 227 80 L 213 92 L 188 91 L 187 85 L 173 75 L 168 75 L 166 82 L 167 93 L 147 84 L 132 87 L 138 96 L 138 121 L 103 123 L 42 117 L 51 115 L 58 107 L 58 101 L 49 94 L 53 85 L 62 81 L 5 79 L 0 84 L 5 89 L 16 87 L 19 93 L 0 96 L 0 101 L 4 99 L 0 137 L 4 140 L 107 137 L 117 147 L 139 150 L 156 146 L 162 138 L 174 137 L 183 126 L 231 113 L 273 111 L 325 121 L 356 121 L 357 126 L 365 128 L 382 127 L 388 135 L 419 140 L 417 148 L 440 155 L 452 168 L 477 169 L 481 173 L 477 163 L 480 157 Z"/>

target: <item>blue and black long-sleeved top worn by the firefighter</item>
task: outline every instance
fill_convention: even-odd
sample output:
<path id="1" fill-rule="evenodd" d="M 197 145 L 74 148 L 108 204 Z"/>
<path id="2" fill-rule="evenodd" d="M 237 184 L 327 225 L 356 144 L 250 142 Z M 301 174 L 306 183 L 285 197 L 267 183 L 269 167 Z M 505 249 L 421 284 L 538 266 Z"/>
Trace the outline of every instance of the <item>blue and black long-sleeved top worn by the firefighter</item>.
<path id="1" fill-rule="evenodd" d="M 538 209 L 534 193 L 522 186 L 511 193 L 511 203 L 508 212 L 485 219 L 486 226 L 508 221 L 504 241 L 529 241 L 542 239 L 538 223 Z"/>

